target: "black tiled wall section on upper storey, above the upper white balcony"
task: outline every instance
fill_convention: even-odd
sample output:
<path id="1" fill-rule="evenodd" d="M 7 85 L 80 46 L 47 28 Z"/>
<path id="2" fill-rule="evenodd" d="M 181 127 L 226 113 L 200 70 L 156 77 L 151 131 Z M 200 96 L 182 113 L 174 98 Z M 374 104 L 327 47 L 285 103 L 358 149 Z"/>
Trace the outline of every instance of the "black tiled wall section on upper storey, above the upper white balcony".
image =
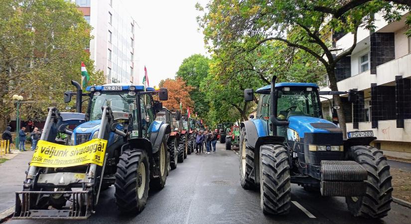
<path id="1" fill-rule="evenodd" d="M 370 42 L 371 74 L 377 74 L 377 66 L 395 59 L 394 33 L 373 33 Z"/>

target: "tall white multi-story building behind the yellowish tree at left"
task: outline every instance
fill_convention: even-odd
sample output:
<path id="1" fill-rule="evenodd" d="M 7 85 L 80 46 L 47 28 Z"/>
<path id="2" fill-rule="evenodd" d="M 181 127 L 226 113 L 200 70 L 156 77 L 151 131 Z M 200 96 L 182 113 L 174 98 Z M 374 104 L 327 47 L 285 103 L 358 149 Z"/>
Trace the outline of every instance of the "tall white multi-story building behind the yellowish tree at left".
<path id="1" fill-rule="evenodd" d="M 106 83 L 138 83 L 137 22 L 121 0 L 71 0 L 93 27 L 90 57 Z"/>

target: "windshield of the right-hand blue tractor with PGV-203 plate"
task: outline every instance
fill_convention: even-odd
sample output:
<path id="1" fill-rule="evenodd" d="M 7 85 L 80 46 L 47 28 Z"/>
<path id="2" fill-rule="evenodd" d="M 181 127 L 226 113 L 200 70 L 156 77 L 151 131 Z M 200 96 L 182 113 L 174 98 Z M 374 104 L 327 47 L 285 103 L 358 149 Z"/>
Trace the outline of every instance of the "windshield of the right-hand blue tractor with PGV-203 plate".
<path id="1" fill-rule="evenodd" d="M 314 88 L 285 87 L 278 90 L 277 119 L 288 119 L 290 116 L 321 116 L 318 95 Z"/>

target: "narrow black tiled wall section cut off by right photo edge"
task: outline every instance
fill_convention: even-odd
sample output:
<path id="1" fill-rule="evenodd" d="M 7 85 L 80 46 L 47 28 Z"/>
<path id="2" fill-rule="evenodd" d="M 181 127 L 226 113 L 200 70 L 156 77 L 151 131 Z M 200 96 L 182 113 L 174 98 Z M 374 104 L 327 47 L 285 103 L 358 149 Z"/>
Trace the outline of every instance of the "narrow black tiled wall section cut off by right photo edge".
<path id="1" fill-rule="evenodd" d="M 397 127 L 404 127 L 404 119 L 411 119 L 411 79 L 396 76 Z"/>

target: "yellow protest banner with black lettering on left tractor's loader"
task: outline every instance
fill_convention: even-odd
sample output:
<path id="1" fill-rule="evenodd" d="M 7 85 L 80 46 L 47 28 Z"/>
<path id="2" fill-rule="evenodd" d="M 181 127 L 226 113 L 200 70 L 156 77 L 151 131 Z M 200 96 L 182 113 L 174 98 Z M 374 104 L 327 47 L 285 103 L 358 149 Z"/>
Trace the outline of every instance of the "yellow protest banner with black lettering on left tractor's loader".
<path id="1" fill-rule="evenodd" d="M 107 140 L 95 138 L 80 145 L 38 140 L 30 166 L 69 167 L 88 163 L 103 166 Z"/>

